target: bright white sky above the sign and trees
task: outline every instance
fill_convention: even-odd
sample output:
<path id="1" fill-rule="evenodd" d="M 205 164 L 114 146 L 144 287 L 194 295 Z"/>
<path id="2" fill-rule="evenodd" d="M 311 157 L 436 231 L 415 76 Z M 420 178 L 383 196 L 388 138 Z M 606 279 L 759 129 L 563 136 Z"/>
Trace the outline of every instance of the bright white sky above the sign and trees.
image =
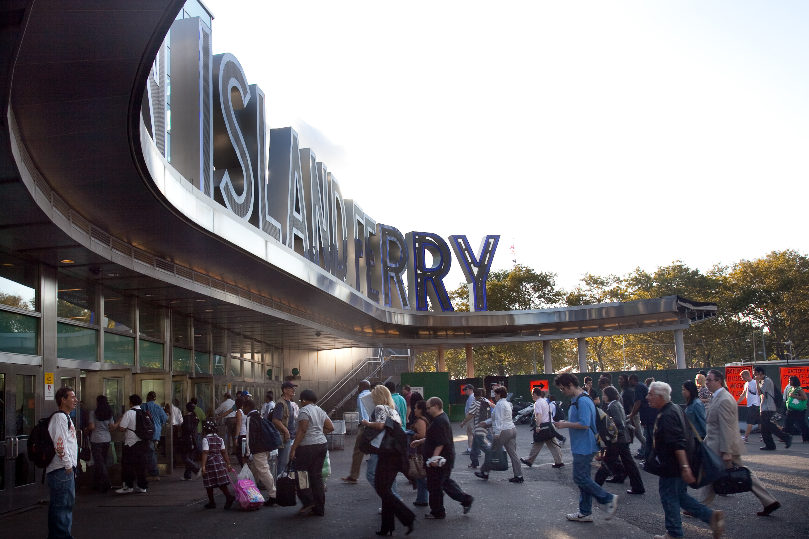
<path id="1" fill-rule="evenodd" d="M 566 288 L 807 251 L 809 3 L 205 2 L 271 126 L 403 233 L 502 234 L 495 268 L 513 238 Z"/>

